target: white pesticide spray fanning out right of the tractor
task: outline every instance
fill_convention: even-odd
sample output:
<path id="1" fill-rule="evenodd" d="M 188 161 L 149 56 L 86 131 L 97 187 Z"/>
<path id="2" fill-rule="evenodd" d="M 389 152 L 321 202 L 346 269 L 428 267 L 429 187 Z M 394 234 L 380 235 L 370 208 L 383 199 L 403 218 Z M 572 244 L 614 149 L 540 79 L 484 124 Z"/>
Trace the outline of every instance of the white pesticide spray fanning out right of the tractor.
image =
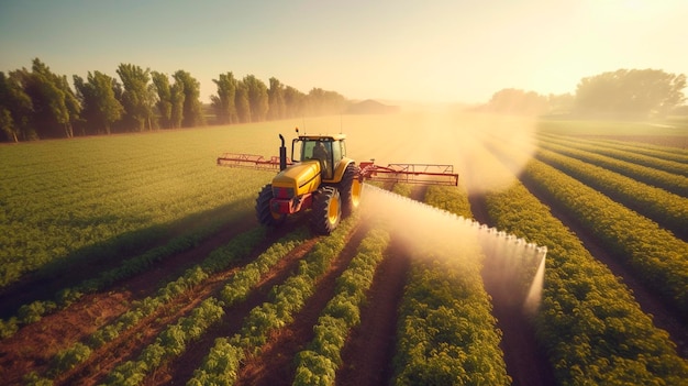
<path id="1" fill-rule="evenodd" d="M 443 250 L 454 252 L 442 255 L 467 258 L 466 254 L 456 252 L 479 244 L 481 254 L 468 255 L 484 258 L 484 272 L 501 293 L 502 301 L 520 307 L 528 315 L 537 310 L 544 283 L 545 246 L 370 185 L 364 189 L 359 209 L 369 217 L 368 221 L 391 227 L 406 249 L 420 251 L 414 255 Z"/>

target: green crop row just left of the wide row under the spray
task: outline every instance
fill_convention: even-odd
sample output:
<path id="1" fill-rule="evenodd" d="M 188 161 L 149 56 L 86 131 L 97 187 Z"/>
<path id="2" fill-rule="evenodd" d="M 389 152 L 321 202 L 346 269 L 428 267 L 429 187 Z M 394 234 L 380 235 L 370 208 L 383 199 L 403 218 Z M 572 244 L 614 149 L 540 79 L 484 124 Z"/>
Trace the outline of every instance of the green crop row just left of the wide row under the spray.
<path id="1" fill-rule="evenodd" d="M 381 229 L 373 229 L 360 242 L 356 255 L 337 278 L 334 297 L 313 327 L 315 337 L 297 355 L 293 385 L 335 384 L 336 371 L 342 365 L 342 349 L 351 329 L 360 322 L 360 306 L 388 244 L 389 233 Z"/>

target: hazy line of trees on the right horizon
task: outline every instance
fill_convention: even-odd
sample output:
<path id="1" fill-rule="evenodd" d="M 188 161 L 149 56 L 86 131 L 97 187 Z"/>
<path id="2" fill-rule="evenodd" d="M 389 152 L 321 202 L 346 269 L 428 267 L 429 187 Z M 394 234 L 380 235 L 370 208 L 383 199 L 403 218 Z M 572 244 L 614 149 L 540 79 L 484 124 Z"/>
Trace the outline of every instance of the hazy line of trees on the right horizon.
<path id="1" fill-rule="evenodd" d="M 576 92 L 543 96 L 499 90 L 478 110 L 514 114 L 568 114 L 580 118 L 647 119 L 686 114 L 684 74 L 658 69 L 618 69 L 582 78 Z"/>

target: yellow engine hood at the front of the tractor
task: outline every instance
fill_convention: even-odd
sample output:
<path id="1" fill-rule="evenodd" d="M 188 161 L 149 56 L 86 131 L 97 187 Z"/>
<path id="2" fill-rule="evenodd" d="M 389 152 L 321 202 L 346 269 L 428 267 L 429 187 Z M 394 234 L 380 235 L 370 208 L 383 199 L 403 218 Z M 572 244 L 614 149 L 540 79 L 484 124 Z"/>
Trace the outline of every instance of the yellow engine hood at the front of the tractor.
<path id="1" fill-rule="evenodd" d="M 292 198 L 313 192 L 320 186 L 320 162 L 317 159 L 293 164 L 273 178 L 275 198 Z"/>

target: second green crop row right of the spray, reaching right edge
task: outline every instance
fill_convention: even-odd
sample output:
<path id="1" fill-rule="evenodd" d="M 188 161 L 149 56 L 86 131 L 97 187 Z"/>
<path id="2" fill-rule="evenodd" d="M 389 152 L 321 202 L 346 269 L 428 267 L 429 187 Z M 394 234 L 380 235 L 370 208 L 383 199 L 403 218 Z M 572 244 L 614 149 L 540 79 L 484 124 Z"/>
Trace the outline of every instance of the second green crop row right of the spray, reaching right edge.
<path id="1" fill-rule="evenodd" d="M 601 240 L 608 251 L 625 258 L 641 280 L 688 316 L 688 243 L 541 162 L 531 162 L 525 175 Z"/>

